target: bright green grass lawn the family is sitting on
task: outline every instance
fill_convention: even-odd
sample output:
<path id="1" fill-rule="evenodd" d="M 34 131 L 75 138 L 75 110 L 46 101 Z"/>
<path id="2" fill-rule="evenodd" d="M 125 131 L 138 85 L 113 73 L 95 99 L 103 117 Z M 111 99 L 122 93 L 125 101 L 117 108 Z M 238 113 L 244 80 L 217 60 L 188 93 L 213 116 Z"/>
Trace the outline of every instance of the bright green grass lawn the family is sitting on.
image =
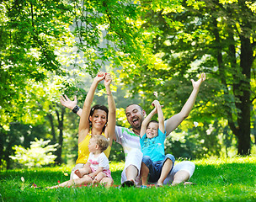
<path id="1" fill-rule="evenodd" d="M 82 187 L 31 189 L 30 182 L 46 187 L 69 179 L 71 167 L 10 170 L 0 173 L 1 201 L 256 201 L 256 157 L 195 161 L 190 181 L 195 186 L 137 189 Z M 123 163 L 111 163 L 115 184 L 120 184 Z M 24 183 L 21 180 L 24 178 Z"/>

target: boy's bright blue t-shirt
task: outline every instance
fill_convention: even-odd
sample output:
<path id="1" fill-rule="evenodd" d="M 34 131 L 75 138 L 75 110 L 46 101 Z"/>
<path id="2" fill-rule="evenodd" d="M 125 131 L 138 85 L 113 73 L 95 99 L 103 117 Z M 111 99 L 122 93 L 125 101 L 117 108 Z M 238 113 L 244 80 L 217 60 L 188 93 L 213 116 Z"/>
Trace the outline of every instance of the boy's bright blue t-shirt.
<path id="1" fill-rule="evenodd" d="M 141 137 L 141 151 L 143 156 L 149 156 L 152 159 L 152 162 L 163 161 L 165 157 L 164 153 L 164 140 L 166 136 L 166 131 L 161 132 L 158 129 L 158 136 L 153 138 L 147 138 L 146 133 Z"/>

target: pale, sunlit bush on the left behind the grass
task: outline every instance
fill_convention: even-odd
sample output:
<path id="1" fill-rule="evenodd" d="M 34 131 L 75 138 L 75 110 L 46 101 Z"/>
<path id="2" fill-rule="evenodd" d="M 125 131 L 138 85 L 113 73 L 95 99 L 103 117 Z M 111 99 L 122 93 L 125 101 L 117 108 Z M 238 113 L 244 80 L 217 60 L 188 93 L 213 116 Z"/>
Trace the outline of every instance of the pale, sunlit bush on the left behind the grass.
<path id="1" fill-rule="evenodd" d="M 10 156 L 15 162 L 19 162 L 24 167 L 41 167 L 54 163 L 56 156 L 52 151 L 56 151 L 55 145 L 48 145 L 50 140 L 44 141 L 43 139 L 30 142 L 30 148 L 26 149 L 23 146 L 13 146 L 15 156 Z"/>

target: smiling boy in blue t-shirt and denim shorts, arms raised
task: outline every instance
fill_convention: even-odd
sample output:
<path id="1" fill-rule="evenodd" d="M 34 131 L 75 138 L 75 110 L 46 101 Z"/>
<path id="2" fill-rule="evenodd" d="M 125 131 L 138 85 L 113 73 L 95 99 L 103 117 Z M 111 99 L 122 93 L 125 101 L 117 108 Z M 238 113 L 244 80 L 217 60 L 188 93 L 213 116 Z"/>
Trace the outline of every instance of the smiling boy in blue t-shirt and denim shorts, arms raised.
<path id="1" fill-rule="evenodd" d="M 162 106 L 157 100 L 152 102 L 155 109 L 147 115 L 141 124 L 141 151 L 143 153 L 141 163 L 142 185 L 147 185 L 147 177 L 150 183 L 163 186 L 163 181 L 173 169 L 175 158 L 171 154 L 164 153 L 164 119 Z M 158 121 L 151 120 L 154 114 L 158 114 Z"/>

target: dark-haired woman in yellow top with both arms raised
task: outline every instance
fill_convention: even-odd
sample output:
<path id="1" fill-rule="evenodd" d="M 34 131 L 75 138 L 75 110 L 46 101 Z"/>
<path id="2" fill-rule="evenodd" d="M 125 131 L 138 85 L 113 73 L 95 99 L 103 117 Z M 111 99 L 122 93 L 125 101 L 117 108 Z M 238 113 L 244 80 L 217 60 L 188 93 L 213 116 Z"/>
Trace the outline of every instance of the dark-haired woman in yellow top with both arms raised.
<path id="1" fill-rule="evenodd" d="M 99 82 L 103 80 L 108 96 L 109 110 L 105 106 L 99 104 L 93 106 L 91 109 L 95 90 Z M 66 187 L 72 185 L 78 186 L 91 182 L 91 178 L 89 178 L 87 175 L 83 178 L 79 178 L 76 174 L 74 174 L 77 169 L 82 168 L 88 162 L 88 144 L 91 137 L 100 135 L 109 139 L 109 147 L 104 151 L 106 157 L 109 157 L 113 136 L 115 135 L 115 101 L 110 90 L 111 82 L 112 78 L 109 73 L 99 72 L 98 75 L 94 77 L 91 88 L 89 89 L 83 104 L 83 111 L 81 110 L 82 114 L 78 127 L 78 157 L 76 166 L 72 169 L 71 179 L 65 183 L 59 184 L 57 187 Z M 61 101 L 65 101 L 65 98 L 61 97 Z M 77 107 L 73 109 L 73 112 L 77 112 Z M 113 183 L 113 179 L 103 178 L 100 183 L 107 183 L 109 186 L 111 183 Z"/>

